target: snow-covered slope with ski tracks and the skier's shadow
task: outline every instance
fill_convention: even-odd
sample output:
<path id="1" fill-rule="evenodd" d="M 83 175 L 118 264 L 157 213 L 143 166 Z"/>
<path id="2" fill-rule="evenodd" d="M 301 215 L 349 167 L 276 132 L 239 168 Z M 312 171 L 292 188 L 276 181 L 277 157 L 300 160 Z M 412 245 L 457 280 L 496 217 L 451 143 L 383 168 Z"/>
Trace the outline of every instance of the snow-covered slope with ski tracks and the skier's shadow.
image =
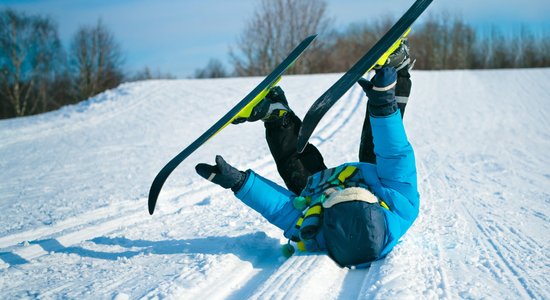
<path id="1" fill-rule="evenodd" d="M 281 82 L 303 116 L 339 74 Z M 405 126 L 421 213 L 368 270 L 280 255 L 282 233 L 194 172 L 222 154 L 277 180 L 259 123 L 230 126 L 166 182 L 160 168 L 260 78 L 125 84 L 0 121 L 0 298 L 550 298 L 550 70 L 413 72 Z M 312 142 L 357 159 L 354 88 Z"/>

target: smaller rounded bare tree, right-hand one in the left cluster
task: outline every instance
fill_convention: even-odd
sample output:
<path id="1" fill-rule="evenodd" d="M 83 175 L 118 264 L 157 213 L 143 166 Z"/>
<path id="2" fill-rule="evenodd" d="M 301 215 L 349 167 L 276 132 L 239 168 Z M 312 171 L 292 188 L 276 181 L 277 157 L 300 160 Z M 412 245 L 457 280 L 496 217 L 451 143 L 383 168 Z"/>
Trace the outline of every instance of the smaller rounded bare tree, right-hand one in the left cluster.
<path id="1" fill-rule="evenodd" d="M 71 44 L 74 89 L 80 100 L 87 99 L 122 82 L 123 57 L 114 35 L 99 20 L 93 27 L 81 27 Z"/>

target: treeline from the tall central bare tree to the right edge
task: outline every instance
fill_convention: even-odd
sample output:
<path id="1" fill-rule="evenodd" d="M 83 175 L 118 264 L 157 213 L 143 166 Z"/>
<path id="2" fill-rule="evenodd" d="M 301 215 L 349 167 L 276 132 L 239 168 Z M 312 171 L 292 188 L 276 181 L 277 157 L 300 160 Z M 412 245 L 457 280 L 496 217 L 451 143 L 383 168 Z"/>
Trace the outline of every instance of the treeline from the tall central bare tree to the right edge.
<path id="1" fill-rule="evenodd" d="M 291 12 L 291 13 L 289 13 Z M 343 72 L 393 25 L 383 18 L 331 28 L 322 0 L 264 0 L 249 21 L 236 50 L 229 53 L 231 71 L 217 59 L 195 76 L 225 77 L 267 74 L 300 39 L 323 33 L 290 73 Z M 480 29 L 460 17 L 423 16 L 409 37 L 415 69 L 497 69 L 550 67 L 550 34 L 523 27 L 503 31 Z"/>

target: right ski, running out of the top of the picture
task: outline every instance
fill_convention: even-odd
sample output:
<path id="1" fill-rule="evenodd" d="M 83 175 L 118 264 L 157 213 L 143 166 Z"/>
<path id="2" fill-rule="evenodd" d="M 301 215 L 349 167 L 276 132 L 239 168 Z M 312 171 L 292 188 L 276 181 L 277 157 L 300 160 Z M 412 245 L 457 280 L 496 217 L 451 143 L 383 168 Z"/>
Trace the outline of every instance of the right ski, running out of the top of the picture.
<path id="1" fill-rule="evenodd" d="M 393 27 L 355 63 L 336 83 L 334 83 L 307 112 L 298 134 L 296 149 L 302 152 L 315 127 L 325 113 L 338 101 L 356 82 L 368 72 L 378 59 L 411 27 L 418 17 L 428 8 L 433 0 L 417 0 L 411 8 L 393 25 Z"/>

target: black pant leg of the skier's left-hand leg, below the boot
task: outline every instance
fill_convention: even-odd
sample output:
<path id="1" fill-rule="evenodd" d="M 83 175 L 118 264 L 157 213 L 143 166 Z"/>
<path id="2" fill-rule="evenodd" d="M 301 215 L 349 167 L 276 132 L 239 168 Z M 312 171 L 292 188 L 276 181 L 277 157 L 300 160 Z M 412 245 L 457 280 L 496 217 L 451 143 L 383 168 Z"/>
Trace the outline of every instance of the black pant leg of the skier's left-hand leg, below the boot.
<path id="1" fill-rule="evenodd" d="M 306 186 L 309 176 L 327 168 L 323 156 L 312 144 L 302 153 L 296 151 L 301 126 L 302 121 L 292 112 L 283 120 L 265 123 L 267 144 L 277 170 L 288 189 L 297 195 Z"/>

